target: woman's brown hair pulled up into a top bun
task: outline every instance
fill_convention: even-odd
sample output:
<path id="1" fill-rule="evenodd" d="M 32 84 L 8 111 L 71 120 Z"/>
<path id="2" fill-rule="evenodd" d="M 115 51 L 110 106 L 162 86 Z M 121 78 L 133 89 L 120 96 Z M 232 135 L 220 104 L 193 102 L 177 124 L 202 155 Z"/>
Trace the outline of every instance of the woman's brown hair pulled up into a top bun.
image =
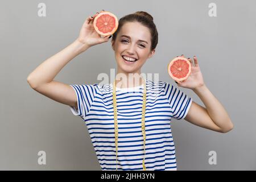
<path id="1" fill-rule="evenodd" d="M 156 45 L 158 44 L 158 31 L 156 30 L 155 23 L 153 22 L 153 17 L 145 11 L 137 11 L 119 19 L 117 31 L 115 31 L 113 34 L 114 41 L 117 38 L 117 34 L 119 30 L 121 30 L 123 24 L 127 22 L 139 22 L 143 26 L 148 27 L 151 33 L 151 51 L 156 48 Z"/>

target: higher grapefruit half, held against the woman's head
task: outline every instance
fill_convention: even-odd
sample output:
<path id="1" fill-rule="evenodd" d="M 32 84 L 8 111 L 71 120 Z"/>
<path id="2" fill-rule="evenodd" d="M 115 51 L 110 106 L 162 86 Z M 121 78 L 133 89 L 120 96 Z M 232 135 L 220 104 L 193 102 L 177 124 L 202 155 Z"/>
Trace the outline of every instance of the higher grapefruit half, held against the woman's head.
<path id="1" fill-rule="evenodd" d="M 104 11 L 94 18 L 93 26 L 98 34 L 102 36 L 112 35 L 118 28 L 117 16 L 109 11 Z"/>

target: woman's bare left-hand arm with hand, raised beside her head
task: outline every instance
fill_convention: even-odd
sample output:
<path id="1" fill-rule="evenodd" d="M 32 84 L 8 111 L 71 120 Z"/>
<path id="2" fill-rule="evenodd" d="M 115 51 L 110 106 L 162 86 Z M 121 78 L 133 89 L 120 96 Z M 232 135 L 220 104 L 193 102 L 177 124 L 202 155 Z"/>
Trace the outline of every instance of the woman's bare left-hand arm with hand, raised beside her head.
<path id="1" fill-rule="evenodd" d="M 84 24 L 82 24 L 79 38 L 68 47 L 49 57 L 28 75 L 27 82 L 31 88 L 57 102 L 77 106 L 75 90 L 71 86 L 53 79 L 74 57 L 86 51 L 89 47 L 108 42 L 108 36 L 101 38 L 94 30 L 93 19 L 96 16 L 97 13 L 85 20 Z"/>

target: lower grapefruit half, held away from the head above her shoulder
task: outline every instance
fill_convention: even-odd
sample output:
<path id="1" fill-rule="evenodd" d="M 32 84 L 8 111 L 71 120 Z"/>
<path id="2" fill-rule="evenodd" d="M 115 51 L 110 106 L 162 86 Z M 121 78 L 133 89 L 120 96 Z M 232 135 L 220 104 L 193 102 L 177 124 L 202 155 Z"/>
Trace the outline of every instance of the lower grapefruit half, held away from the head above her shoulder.
<path id="1" fill-rule="evenodd" d="M 168 73 L 176 81 L 184 81 L 191 73 L 191 63 L 185 57 L 176 57 L 168 64 Z"/>

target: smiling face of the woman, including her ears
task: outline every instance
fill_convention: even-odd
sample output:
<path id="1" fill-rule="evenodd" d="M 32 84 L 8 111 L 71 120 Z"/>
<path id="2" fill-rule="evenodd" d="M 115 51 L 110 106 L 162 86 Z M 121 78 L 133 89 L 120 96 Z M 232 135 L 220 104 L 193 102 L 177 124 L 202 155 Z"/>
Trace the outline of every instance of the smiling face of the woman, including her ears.
<path id="1" fill-rule="evenodd" d="M 115 51 L 118 71 L 122 73 L 141 73 L 142 65 L 155 53 L 155 50 L 150 51 L 150 30 L 138 22 L 123 24 L 115 42 L 112 40 L 112 47 Z M 123 56 L 133 57 L 137 60 L 129 62 Z"/>

